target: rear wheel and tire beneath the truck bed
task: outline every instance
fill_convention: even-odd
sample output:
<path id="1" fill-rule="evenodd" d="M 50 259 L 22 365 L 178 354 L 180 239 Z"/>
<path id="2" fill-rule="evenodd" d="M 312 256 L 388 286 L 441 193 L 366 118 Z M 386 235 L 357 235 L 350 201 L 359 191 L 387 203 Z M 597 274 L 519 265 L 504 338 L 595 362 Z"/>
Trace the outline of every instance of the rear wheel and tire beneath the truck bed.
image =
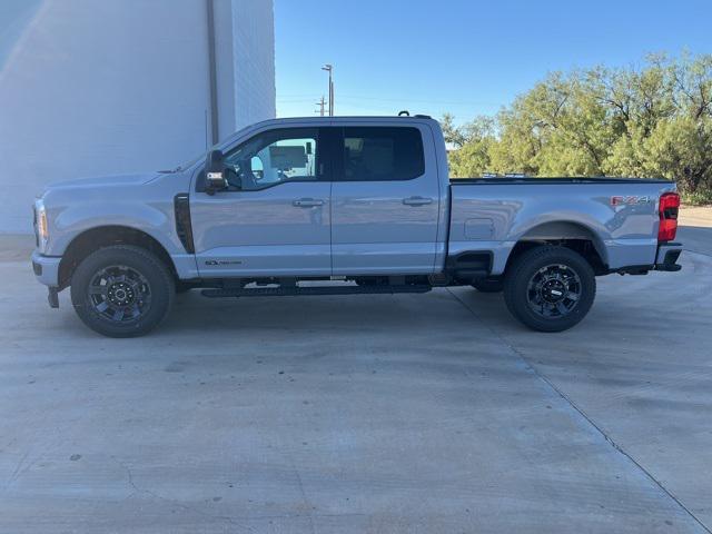
<path id="1" fill-rule="evenodd" d="M 562 332 L 578 324 L 596 295 L 589 261 L 564 247 L 543 245 L 522 254 L 507 269 L 504 300 L 510 313 L 538 332 Z"/>

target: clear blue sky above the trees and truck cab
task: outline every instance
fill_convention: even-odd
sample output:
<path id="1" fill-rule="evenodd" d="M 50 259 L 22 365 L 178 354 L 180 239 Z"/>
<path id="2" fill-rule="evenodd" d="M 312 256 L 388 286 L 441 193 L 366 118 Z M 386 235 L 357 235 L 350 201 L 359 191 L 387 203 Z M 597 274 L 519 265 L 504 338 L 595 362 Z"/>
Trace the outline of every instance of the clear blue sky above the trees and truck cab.
<path id="1" fill-rule="evenodd" d="M 712 53 L 712 0 L 275 0 L 277 113 L 496 112 L 546 72 Z"/>

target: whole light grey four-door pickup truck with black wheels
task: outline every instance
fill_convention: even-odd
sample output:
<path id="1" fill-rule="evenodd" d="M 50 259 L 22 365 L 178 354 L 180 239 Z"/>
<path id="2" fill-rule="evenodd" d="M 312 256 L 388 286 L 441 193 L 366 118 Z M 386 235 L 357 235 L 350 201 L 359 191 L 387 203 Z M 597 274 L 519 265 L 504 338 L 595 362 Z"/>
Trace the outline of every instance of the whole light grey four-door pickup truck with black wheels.
<path id="1" fill-rule="evenodd" d="M 451 179 L 436 120 L 275 119 L 176 169 L 50 186 L 32 266 L 81 320 L 148 333 L 205 297 L 503 291 L 541 332 L 576 325 L 595 277 L 679 270 L 664 179 Z"/>

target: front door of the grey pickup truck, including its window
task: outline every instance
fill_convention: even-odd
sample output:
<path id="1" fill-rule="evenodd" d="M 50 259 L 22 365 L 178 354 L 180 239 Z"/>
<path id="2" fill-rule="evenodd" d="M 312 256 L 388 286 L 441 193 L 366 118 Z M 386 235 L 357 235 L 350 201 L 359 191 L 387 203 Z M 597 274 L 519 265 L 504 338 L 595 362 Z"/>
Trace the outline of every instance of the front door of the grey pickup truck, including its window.
<path id="1" fill-rule="evenodd" d="M 200 276 L 329 276 L 330 184 L 319 129 L 264 131 L 227 150 L 226 166 L 227 190 L 190 196 Z"/>

